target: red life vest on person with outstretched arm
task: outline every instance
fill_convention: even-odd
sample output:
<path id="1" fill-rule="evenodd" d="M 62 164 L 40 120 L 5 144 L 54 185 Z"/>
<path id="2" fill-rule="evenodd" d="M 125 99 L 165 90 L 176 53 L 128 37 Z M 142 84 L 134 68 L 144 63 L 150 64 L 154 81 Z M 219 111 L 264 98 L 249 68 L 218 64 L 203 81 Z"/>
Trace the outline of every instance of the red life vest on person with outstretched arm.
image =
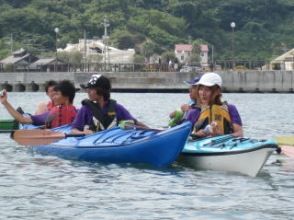
<path id="1" fill-rule="evenodd" d="M 73 105 L 54 106 L 49 112 L 48 123 L 50 128 L 56 128 L 61 125 L 70 124 L 76 117 L 77 109 Z M 53 119 L 51 119 L 53 117 Z M 51 120 L 50 120 L 51 119 Z M 48 126 L 48 123 L 47 126 Z"/>

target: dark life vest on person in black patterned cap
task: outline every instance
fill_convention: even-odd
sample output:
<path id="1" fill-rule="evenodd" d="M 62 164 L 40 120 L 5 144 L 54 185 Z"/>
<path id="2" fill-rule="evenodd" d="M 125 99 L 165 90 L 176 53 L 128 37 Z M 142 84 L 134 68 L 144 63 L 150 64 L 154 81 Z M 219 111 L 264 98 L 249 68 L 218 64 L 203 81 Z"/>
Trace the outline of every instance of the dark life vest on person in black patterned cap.
<path id="1" fill-rule="evenodd" d="M 107 103 L 106 113 L 102 111 L 97 103 L 89 99 L 83 100 L 82 104 L 88 106 L 93 114 L 93 123 L 89 127 L 90 130 L 102 131 L 112 128 L 118 124 L 115 112 L 115 100 L 109 100 L 109 102 Z"/>

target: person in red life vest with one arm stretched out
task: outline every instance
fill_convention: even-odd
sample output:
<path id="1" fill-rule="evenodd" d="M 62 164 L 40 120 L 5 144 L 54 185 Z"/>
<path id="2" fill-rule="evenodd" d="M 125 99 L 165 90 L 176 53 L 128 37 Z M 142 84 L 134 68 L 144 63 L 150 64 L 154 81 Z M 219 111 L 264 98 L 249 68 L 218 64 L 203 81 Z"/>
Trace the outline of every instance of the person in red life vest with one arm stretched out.
<path id="1" fill-rule="evenodd" d="M 77 112 L 76 108 L 72 105 L 76 92 L 75 87 L 70 81 L 63 80 L 54 87 L 54 90 L 56 92 L 53 97 L 55 106 L 50 111 L 40 115 L 23 116 L 17 112 L 8 102 L 6 91 L 0 97 L 0 102 L 11 116 L 22 124 L 45 125 L 47 128 L 70 124 Z"/>

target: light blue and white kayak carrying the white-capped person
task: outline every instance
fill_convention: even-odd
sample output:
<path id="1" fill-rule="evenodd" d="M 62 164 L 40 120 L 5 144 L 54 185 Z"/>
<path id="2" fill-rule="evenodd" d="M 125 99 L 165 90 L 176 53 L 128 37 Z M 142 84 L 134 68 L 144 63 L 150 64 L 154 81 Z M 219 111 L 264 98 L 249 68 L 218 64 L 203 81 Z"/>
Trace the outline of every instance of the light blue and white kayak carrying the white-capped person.
<path id="1" fill-rule="evenodd" d="M 274 140 L 222 135 L 188 140 L 179 162 L 195 169 L 230 171 L 256 176 L 277 148 L 278 145 Z"/>

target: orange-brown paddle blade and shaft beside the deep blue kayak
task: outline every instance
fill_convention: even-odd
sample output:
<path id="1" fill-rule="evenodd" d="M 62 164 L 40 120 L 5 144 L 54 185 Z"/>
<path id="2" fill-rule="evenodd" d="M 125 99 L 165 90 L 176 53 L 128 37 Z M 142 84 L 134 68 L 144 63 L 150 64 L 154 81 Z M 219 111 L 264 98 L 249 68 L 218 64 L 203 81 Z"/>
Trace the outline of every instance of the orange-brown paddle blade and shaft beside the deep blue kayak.
<path id="1" fill-rule="evenodd" d="M 85 134 L 65 134 L 62 132 L 33 129 L 11 132 L 11 138 L 18 144 L 27 146 L 46 145 L 67 137 L 82 137 Z"/>

